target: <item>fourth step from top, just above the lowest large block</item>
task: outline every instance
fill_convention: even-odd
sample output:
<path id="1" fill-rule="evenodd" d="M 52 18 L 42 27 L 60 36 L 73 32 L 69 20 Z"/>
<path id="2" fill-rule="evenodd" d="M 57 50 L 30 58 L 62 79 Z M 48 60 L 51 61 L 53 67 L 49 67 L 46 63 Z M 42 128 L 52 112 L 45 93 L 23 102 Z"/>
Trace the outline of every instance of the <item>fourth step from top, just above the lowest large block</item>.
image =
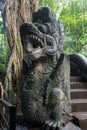
<path id="1" fill-rule="evenodd" d="M 72 112 L 87 111 L 87 98 L 84 99 L 72 99 Z"/>

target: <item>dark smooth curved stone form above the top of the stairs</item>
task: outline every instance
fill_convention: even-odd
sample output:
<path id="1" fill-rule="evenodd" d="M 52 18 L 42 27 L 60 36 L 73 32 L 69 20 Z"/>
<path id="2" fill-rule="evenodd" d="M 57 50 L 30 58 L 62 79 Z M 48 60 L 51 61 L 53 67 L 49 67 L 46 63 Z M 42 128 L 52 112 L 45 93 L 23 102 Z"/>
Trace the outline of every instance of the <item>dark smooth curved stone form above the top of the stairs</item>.
<path id="1" fill-rule="evenodd" d="M 69 54 L 72 76 L 83 76 L 87 79 L 87 58 L 80 53 Z"/>

